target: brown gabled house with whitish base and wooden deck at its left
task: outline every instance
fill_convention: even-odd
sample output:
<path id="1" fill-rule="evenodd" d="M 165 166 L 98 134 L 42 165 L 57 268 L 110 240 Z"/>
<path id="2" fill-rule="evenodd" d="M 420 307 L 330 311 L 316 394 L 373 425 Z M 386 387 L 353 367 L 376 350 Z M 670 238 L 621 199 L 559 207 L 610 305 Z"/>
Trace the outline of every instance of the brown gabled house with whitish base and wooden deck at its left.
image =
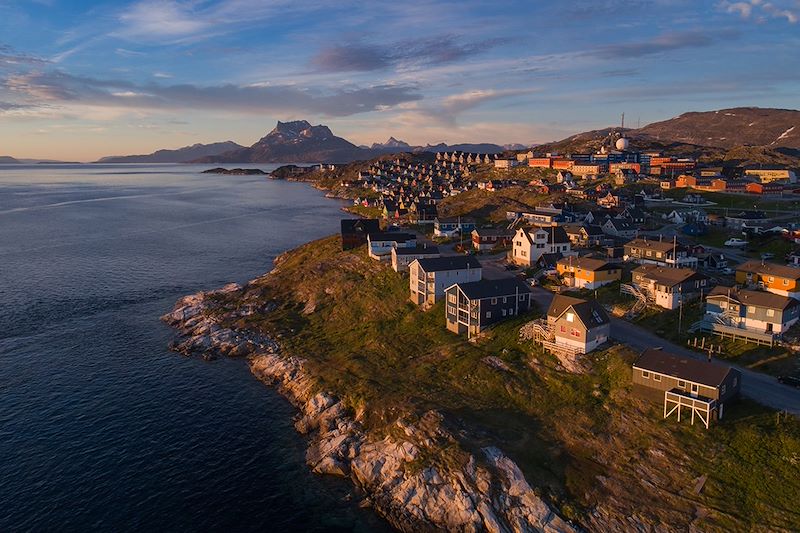
<path id="1" fill-rule="evenodd" d="M 611 320 L 596 300 L 555 295 L 547 309 L 547 324 L 556 345 L 589 353 L 608 341 Z"/>

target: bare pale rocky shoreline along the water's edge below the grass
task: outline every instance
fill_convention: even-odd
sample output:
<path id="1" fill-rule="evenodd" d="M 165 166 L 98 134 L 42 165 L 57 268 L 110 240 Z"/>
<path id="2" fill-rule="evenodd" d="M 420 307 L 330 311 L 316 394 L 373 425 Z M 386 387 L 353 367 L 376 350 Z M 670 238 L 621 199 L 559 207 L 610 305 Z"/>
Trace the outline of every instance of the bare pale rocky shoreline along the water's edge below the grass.
<path id="1" fill-rule="evenodd" d="M 387 435 L 366 431 L 339 398 L 319 389 L 303 360 L 281 354 L 271 339 L 220 324 L 211 312 L 214 302 L 241 292 L 232 284 L 182 298 L 162 317 L 179 330 L 172 347 L 184 354 L 247 356 L 253 374 L 298 409 L 295 428 L 308 438 L 306 461 L 314 472 L 351 479 L 365 503 L 401 531 L 576 531 L 502 451 L 487 447 L 475 456 L 461 450 L 434 411 L 396 422 Z M 256 312 L 269 309 L 245 307 L 226 322 Z"/>

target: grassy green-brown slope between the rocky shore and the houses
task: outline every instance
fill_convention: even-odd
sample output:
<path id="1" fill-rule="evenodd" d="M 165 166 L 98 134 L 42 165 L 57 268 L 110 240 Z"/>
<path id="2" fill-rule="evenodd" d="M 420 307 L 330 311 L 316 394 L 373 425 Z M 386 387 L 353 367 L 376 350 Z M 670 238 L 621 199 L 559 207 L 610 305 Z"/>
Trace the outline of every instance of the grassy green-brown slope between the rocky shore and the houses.
<path id="1" fill-rule="evenodd" d="M 281 335 L 320 387 L 349 402 L 372 430 L 390 431 L 398 417 L 435 408 L 464 430 L 462 448 L 500 446 L 581 521 L 599 505 L 684 528 L 695 514 L 706 530 L 800 528 L 796 420 L 778 421 L 749 403 L 709 431 L 661 420 L 658 406 L 631 396 L 635 354 L 624 347 L 594 354 L 591 374 L 571 375 L 517 340 L 534 315 L 465 342 L 446 331 L 441 304 L 423 313 L 407 302 L 407 278 L 363 249 L 338 248 L 338 238 L 328 238 L 280 258 L 243 298 L 279 308 L 239 326 Z M 489 355 L 508 369 L 482 362 Z M 692 488 L 702 474 L 709 479 L 698 496 Z"/>

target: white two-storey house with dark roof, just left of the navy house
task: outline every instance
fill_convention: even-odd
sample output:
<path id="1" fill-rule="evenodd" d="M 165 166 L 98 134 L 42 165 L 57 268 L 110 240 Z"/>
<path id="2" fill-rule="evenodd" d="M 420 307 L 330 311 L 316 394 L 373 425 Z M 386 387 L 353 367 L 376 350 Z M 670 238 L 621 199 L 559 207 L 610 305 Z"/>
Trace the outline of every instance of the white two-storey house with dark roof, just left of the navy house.
<path id="1" fill-rule="evenodd" d="M 415 259 L 408 265 L 411 301 L 432 305 L 454 283 L 470 283 L 481 279 L 481 264 L 472 256 Z"/>

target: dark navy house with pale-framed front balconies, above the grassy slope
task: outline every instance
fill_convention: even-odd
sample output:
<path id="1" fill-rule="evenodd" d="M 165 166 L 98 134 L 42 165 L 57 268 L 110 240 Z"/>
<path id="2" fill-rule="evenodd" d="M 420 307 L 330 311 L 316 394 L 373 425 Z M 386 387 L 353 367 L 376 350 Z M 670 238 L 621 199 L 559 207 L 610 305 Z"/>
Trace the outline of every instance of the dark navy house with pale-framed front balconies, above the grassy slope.
<path id="1" fill-rule="evenodd" d="M 530 310 L 531 289 L 517 278 L 455 283 L 445 290 L 447 329 L 471 337 Z"/>

